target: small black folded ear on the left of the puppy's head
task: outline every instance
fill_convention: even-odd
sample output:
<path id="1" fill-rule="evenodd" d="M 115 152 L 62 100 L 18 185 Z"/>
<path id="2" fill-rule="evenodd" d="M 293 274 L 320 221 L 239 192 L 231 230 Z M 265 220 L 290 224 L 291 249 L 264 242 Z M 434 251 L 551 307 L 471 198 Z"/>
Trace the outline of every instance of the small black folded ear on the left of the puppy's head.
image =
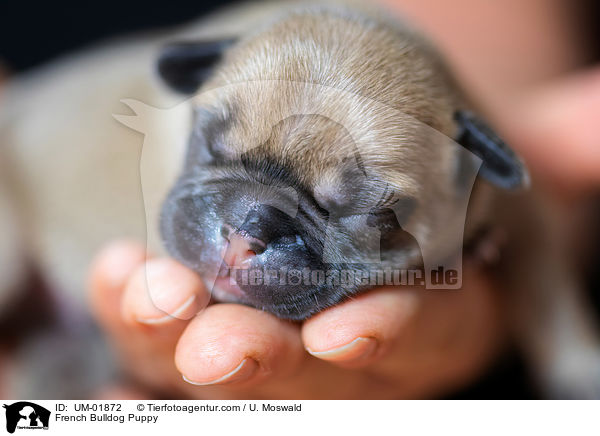
<path id="1" fill-rule="evenodd" d="M 175 91 L 193 94 L 210 76 L 223 52 L 234 42 L 232 38 L 169 44 L 158 58 L 158 73 Z"/>

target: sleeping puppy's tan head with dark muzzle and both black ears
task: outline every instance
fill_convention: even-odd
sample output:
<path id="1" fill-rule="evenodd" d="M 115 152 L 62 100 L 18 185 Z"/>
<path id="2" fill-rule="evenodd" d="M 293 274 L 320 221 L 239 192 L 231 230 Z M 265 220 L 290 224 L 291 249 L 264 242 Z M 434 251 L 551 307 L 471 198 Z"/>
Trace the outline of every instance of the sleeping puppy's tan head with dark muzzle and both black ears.
<path id="1" fill-rule="evenodd" d="M 475 155 L 488 180 L 522 183 L 510 150 L 459 110 L 435 53 L 401 30 L 318 9 L 222 59 L 215 42 L 165 52 L 159 69 L 175 88 L 210 78 L 161 230 L 218 299 L 306 318 L 364 289 L 374 269 L 457 249 Z"/>

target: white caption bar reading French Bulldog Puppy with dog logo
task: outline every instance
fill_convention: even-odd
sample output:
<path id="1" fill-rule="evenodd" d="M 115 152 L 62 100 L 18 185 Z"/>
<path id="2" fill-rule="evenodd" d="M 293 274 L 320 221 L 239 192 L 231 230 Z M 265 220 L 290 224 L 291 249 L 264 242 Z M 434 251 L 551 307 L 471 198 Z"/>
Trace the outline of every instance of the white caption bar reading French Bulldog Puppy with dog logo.
<path id="1" fill-rule="evenodd" d="M 598 435 L 598 401 L 4 401 L 0 434 Z M 8 433 L 7 433 L 8 432 Z"/>

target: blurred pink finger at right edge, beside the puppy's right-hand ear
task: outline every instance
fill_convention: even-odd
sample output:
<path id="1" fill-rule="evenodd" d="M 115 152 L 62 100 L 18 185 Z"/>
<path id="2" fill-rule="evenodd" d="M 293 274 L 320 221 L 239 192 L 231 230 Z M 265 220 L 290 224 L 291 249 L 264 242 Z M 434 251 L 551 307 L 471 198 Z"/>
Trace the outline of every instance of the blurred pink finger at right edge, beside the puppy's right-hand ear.
<path id="1" fill-rule="evenodd" d="M 510 139 L 529 166 L 567 186 L 600 184 L 600 69 L 563 79 L 512 108 Z"/>

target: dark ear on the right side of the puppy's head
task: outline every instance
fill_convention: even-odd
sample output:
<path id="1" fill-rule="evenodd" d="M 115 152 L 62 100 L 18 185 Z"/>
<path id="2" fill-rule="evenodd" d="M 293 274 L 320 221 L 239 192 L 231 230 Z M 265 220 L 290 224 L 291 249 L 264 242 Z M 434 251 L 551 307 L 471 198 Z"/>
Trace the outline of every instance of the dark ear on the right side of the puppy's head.
<path id="1" fill-rule="evenodd" d="M 483 162 L 479 175 L 504 189 L 529 186 L 529 174 L 519 157 L 481 119 L 468 111 L 456 111 L 459 125 L 456 142 Z"/>

